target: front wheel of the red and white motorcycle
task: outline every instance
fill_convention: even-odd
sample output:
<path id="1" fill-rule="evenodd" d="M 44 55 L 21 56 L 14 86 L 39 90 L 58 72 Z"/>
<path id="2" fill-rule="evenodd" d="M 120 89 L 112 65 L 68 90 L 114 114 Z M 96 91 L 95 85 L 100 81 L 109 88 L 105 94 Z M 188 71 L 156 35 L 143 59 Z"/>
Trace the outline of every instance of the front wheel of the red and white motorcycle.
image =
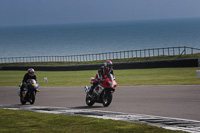
<path id="1" fill-rule="evenodd" d="M 102 95 L 102 103 L 104 107 L 108 107 L 112 102 L 113 94 L 110 90 L 105 90 Z"/>

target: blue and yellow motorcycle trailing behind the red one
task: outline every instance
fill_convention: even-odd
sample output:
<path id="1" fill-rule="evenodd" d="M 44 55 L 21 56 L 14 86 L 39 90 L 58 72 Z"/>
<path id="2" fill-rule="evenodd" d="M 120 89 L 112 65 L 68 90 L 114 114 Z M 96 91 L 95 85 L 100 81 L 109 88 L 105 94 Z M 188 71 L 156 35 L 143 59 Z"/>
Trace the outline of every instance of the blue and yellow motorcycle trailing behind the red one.
<path id="1" fill-rule="evenodd" d="M 22 84 L 19 86 L 21 88 Z M 18 95 L 20 97 L 20 102 L 22 105 L 29 102 L 30 104 L 34 104 L 35 96 L 38 91 L 39 85 L 34 79 L 27 80 L 27 85 L 24 87 L 22 94 L 20 94 L 20 89 L 18 90 Z"/>

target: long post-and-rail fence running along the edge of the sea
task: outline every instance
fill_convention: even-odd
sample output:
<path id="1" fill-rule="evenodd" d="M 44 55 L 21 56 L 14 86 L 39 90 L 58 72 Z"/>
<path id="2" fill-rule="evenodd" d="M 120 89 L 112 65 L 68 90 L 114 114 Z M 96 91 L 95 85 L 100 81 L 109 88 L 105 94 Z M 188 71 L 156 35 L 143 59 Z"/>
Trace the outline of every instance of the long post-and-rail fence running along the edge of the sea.
<path id="1" fill-rule="evenodd" d="M 129 50 L 97 54 L 69 55 L 69 56 L 32 56 L 0 58 L 0 63 L 27 63 L 27 62 L 82 62 L 107 59 L 125 59 L 155 56 L 174 56 L 200 53 L 200 49 L 192 47 L 167 47 L 142 50 Z"/>

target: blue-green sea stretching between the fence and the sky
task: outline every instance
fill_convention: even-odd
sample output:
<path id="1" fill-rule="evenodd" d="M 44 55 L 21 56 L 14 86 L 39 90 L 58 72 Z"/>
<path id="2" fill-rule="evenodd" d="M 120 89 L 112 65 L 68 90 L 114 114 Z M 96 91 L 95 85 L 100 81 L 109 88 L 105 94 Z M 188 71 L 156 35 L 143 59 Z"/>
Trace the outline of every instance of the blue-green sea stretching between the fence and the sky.
<path id="1" fill-rule="evenodd" d="M 0 58 L 200 48 L 200 18 L 0 27 Z"/>

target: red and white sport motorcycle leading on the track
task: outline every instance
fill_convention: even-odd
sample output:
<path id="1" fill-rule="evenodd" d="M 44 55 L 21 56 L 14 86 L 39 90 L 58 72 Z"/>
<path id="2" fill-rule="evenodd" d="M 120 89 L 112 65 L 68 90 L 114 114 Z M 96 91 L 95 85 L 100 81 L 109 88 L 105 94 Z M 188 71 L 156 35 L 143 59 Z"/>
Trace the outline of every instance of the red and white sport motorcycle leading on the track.
<path id="1" fill-rule="evenodd" d="M 90 84 L 95 81 L 95 78 L 91 78 Z M 117 87 L 117 82 L 112 74 L 108 74 L 106 78 L 100 82 L 94 89 L 92 94 L 88 94 L 91 88 L 85 86 L 86 92 L 86 104 L 93 106 L 94 103 L 102 103 L 104 107 L 108 107 L 112 102 L 113 92 Z"/>

